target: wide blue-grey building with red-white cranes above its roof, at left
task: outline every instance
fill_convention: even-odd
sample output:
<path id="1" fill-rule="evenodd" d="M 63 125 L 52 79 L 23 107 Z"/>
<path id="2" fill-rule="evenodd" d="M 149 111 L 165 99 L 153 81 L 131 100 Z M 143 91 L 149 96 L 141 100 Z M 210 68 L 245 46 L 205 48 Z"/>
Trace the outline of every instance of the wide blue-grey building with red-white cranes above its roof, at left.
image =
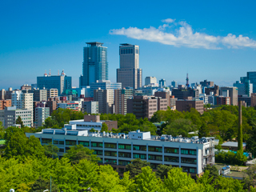
<path id="1" fill-rule="evenodd" d="M 62 70 L 61 75 L 50 75 L 45 74 L 42 77 L 37 78 L 37 84 L 39 90 L 50 89 L 58 89 L 58 95 L 61 95 L 65 90 L 72 89 L 72 78 L 66 76 L 64 74 L 64 70 Z"/>

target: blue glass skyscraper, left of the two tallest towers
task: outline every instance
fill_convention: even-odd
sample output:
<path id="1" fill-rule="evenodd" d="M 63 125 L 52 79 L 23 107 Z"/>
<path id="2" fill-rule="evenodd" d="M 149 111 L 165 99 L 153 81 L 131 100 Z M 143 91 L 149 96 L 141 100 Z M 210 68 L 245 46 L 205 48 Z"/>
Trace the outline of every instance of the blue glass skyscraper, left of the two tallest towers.
<path id="1" fill-rule="evenodd" d="M 83 48 L 80 88 L 90 86 L 97 80 L 108 80 L 107 47 L 102 42 L 86 42 Z"/>

